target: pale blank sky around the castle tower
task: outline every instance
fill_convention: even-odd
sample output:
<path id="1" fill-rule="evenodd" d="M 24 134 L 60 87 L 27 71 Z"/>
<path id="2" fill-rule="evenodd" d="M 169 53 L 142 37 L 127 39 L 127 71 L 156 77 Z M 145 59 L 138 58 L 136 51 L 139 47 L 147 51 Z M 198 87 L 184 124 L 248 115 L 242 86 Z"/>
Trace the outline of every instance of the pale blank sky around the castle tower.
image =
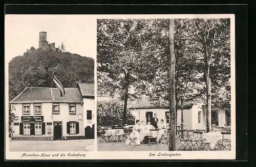
<path id="1" fill-rule="evenodd" d="M 23 55 L 30 47 L 39 47 L 39 32 L 47 32 L 47 41 L 55 47 L 96 59 L 96 19 L 85 15 L 5 15 L 5 59 Z"/>

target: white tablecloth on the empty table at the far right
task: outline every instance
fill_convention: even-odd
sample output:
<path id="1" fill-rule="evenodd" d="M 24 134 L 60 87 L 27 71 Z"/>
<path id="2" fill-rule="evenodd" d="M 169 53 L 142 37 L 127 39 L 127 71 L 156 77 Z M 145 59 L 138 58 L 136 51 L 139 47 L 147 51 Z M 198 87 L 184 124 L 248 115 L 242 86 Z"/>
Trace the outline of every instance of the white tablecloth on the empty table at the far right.
<path id="1" fill-rule="evenodd" d="M 210 143 L 210 147 L 211 149 L 215 148 L 216 143 L 222 139 L 223 135 L 221 134 L 221 132 L 208 132 L 208 133 L 204 133 L 202 135 L 202 137 L 204 138 L 204 140 L 206 142 Z M 229 138 L 230 139 L 230 134 L 225 134 L 224 138 Z"/>

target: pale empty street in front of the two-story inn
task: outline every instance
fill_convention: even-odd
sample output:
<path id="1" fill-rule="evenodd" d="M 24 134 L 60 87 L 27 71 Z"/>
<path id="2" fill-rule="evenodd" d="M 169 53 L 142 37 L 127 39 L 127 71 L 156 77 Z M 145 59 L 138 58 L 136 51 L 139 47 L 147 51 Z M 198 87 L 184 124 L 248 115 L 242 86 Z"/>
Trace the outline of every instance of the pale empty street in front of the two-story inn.
<path id="1" fill-rule="evenodd" d="M 9 141 L 9 151 L 94 151 L 94 140 Z"/>

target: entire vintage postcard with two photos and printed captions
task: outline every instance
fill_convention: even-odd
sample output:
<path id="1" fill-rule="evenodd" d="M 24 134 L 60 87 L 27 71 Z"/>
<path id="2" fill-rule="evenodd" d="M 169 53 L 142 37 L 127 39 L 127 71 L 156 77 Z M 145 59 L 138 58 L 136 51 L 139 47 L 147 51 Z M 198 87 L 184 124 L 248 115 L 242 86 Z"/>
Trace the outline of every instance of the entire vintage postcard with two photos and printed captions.
<path id="1" fill-rule="evenodd" d="M 5 24 L 6 159 L 236 159 L 234 15 Z"/>

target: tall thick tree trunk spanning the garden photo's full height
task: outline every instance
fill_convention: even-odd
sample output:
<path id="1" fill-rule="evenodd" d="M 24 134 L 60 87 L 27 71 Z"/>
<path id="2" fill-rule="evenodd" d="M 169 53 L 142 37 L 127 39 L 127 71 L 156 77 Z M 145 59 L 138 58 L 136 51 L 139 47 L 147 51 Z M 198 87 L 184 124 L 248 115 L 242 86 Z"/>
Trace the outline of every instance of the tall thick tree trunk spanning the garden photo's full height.
<path id="1" fill-rule="evenodd" d="M 174 53 L 174 19 L 169 19 L 169 48 L 170 48 L 170 67 L 169 67 L 169 151 L 175 151 L 175 53 Z"/>

